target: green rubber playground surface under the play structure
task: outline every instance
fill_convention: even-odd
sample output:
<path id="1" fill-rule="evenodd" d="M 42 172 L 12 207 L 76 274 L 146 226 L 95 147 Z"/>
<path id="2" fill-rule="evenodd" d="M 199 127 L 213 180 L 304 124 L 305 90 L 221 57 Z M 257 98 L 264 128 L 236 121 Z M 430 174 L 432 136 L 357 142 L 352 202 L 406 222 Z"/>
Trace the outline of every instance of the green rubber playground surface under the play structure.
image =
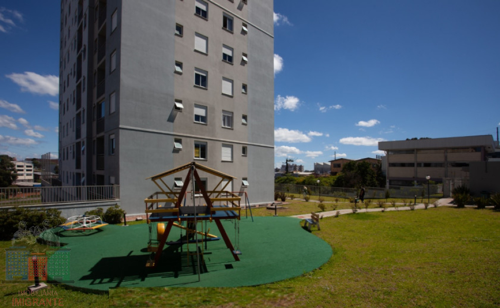
<path id="1" fill-rule="evenodd" d="M 224 221 L 223 225 L 236 247 L 234 221 Z M 207 227 L 211 234 L 220 236 L 215 223 L 209 222 Z M 146 268 L 151 254 L 146 250 L 147 224 L 107 225 L 91 232 L 65 231 L 60 240 L 71 248 L 70 274 L 71 280 L 75 280 L 72 285 L 106 291 L 120 286 L 258 285 L 310 272 L 332 255 L 331 247 L 303 229 L 297 218 L 254 217 L 253 222 L 251 218 L 242 218 L 239 229 L 240 261 L 234 260 L 223 239 L 210 241 L 203 252 L 200 275 L 197 258 L 187 256 L 186 244 L 182 252 L 180 245 L 165 245 L 156 268 Z M 168 241 L 179 237 L 180 229 L 173 227 Z M 195 244 L 190 244 L 190 251 L 194 249 Z"/>

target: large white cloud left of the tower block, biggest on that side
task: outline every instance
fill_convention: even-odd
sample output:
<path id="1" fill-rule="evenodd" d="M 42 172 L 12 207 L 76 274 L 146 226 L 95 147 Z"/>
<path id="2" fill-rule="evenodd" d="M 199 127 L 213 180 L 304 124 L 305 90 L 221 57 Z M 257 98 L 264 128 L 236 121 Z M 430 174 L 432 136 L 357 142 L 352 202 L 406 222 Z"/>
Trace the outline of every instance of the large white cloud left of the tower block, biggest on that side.
<path id="1" fill-rule="evenodd" d="M 54 75 L 39 75 L 33 72 L 12 73 L 5 75 L 17 85 L 21 91 L 35 94 L 49 94 L 55 96 L 59 93 L 59 77 Z"/>

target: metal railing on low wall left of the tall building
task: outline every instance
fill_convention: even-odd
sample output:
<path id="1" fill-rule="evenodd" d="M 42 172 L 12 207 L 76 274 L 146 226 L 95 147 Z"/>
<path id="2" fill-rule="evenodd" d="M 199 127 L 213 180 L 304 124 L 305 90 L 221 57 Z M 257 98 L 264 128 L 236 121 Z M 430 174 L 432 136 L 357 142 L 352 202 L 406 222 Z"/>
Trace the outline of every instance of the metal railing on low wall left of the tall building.
<path id="1" fill-rule="evenodd" d="M 119 185 L 0 188 L 0 206 L 58 204 L 120 199 Z"/>

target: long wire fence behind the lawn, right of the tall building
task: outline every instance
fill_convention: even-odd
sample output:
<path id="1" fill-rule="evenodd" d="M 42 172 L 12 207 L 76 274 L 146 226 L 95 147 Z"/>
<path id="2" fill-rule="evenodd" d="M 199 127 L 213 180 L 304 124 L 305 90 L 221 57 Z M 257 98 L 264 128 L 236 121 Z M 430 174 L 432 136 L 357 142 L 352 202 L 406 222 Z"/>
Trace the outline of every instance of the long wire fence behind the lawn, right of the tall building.
<path id="1" fill-rule="evenodd" d="M 328 186 L 308 186 L 307 190 L 310 195 L 321 195 L 325 197 L 337 198 L 354 198 L 358 196 L 359 190 L 356 188 L 328 187 Z M 385 199 L 385 188 L 365 187 L 365 199 Z M 283 191 L 287 194 L 297 194 L 302 196 L 304 193 L 304 185 L 294 184 L 274 184 L 274 191 Z M 390 186 L 390 198 L 422 198 L 430 195 L 431 198 L 442 197 L 442 185 L 429 185 L 430 194 L 428 194 L 428 186 L 408 187 L 408 186 Z"/>

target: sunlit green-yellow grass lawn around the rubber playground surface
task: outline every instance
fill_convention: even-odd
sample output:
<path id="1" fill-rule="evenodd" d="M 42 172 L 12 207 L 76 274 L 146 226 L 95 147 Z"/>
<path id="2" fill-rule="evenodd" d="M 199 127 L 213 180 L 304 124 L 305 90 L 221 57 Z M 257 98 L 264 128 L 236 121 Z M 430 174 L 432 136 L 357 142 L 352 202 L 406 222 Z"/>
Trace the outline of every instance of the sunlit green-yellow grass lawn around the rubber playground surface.
<path id="1" fill-rule="evenodd" d="M 317 203 L 311 206 L 317 208 Z M 498 211 L 432 207 L 341 215 L 322 219 L 321 231 L 313 233 L 331 245 L 331 259 L 316 271 L 271 284 L 238 288 L 117 288 L 110 290 L 109 295 L 85 294 L 53 285 L 50 288 L 64 299 L 65 306 L 71 307 L 500 305 Z M 9 242 L 0 244 L 7 247 Z M 0 259 L 0 270 L 5 271 L 5 253 Z M 10 306 L 12 297 L 24 289 L 20 285 L 2 285 L 0 306 Z"/>

